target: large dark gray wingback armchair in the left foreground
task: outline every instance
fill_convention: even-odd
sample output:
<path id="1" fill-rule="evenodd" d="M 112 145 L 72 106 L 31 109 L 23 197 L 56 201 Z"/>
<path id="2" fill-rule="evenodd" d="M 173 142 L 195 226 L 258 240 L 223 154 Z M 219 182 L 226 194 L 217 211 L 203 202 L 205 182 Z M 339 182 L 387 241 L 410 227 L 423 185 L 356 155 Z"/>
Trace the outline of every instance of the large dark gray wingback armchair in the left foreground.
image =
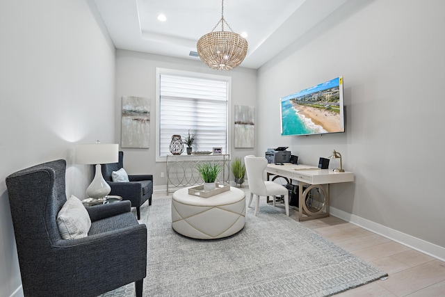
<path id="1" fill-rule="evenodd" d="M 65 160 L 6 177 L 25 296 L 98 296 L 135 282 L 142 296 L 147 227 L 130 202 L 88 207 L 88 236 L 62 239 L 56 217 L 67 200 Z"/>

